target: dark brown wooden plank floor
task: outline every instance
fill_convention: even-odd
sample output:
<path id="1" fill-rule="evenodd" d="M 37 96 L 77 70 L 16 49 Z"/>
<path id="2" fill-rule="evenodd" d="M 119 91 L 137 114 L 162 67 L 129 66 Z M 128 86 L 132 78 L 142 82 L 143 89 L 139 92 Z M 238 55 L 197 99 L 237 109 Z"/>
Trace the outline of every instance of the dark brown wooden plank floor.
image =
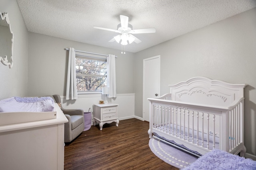
<path id="1" fill-rule="evenodd" d="M 149 123 L 126 119 L 92 126 L 72 143 L 66 143 L 65 170 L 178 170 L 151 152 Z"/>

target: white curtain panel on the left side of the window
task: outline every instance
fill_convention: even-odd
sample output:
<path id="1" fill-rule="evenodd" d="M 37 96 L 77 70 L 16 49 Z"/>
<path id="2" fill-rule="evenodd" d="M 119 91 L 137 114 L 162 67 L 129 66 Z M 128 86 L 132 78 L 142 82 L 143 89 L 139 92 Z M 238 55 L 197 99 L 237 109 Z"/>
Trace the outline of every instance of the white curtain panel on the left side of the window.
<path id="1" fill-rule="evenodd" d="M 74 100 L 77 98 L 78 95 L 76 89 L 76 52 L 74 48 L 70 48 L 68 55 L 66 100 Z"/>

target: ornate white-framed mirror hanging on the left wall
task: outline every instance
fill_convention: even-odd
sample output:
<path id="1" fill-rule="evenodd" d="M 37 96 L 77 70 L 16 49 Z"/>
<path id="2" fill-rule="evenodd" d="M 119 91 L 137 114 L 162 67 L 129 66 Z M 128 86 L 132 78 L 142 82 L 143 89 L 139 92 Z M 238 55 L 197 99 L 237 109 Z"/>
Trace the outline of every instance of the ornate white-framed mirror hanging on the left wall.
<path id="1" fill-rule="evenodd" d="M 9 66 L 9 68 L 12 68 L 12 65 L 13 65 L 12 51 L 13 51 L 14 36 L 13 36 L 13 32 L 11 30 L 10 20 L 9 20 L 8 14 L 0 12 L 0 16 L 1 16 L 0 27 L 2 27 L 2 28 L 8 27 L 8 30 L 10 31 L 10 35 L 5 35 L 4 37 L 2 35 L 0 37 L 0 44 L 1 44 L 0 60 L 4 65 Z M 11 37 L 10 40 L 8 39 L 8 36 Z M 10 42 L 10 44 L 8 42 Z M 10 54 L 9 54 L 10 55 L 10 62 L 8 61 L 8 57 L 9 57 L 8 53 L 9 52 L 6 52 L 6 51 L 10 52 Z M 1 57 L 1 55 L 4 56 L 4 57 Z"/>

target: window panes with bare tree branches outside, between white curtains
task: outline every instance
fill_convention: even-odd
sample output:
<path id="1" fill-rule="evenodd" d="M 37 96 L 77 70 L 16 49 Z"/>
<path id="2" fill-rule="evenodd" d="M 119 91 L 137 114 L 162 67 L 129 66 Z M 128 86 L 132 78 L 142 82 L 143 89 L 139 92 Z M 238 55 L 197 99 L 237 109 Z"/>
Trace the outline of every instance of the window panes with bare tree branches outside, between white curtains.
<path id="1" fill-rule="evenodd" d="M 100 92 L 107 86 L 107 62 L 76 56 L 76 88 L 78 92 Z"/>

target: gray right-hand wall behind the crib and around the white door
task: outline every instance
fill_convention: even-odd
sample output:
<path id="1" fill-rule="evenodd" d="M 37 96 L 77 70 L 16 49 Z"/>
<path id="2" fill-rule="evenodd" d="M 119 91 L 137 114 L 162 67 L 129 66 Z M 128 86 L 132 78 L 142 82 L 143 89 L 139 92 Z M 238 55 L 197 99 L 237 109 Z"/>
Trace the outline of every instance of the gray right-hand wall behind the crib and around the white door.
<path id="1" fill-rule="evenodd" d="M 171 30 L 170 30 L 171 31 Z M 195 76 L 245 83 L 244 132 L 256 155 L 256 8 L 135 54 L 135 115 L 142 117 L 143 59 L 161 56 L 160 94 Z"/>

